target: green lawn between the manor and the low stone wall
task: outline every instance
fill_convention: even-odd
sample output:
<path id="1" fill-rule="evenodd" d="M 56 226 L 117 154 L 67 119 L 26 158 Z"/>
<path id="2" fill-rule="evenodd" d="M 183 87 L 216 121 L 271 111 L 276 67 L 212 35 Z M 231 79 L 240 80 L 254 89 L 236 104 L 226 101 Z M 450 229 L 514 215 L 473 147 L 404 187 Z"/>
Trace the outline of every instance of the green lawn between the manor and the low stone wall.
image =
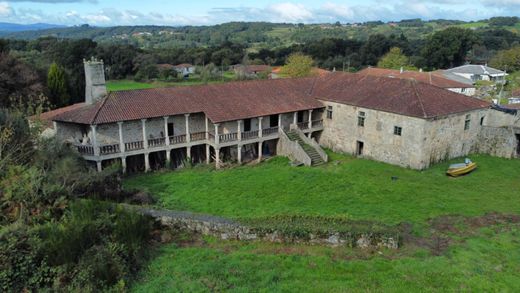
<path id="1" fill-rule="evenodd" d="M 143 174 L 124 186 L 148 190 L 168 209 L 230 218 L 305 214 L 422 224 L 447 214 L 520 213 L 520 160 L 471 158 L 479 168 L 461 178 L 445 175 L 448 163 L 421 172 L 330 153 L 331 162 L 317 168 L 277 157 L 254 167 Z"/>

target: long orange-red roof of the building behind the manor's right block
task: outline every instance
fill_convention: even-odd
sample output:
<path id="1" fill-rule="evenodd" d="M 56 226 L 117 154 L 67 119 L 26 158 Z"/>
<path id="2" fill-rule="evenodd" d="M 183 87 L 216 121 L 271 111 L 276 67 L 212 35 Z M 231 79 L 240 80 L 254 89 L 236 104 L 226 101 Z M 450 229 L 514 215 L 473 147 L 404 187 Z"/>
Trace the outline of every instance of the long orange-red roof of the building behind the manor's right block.
<path id="1" fill-rule="evenodd" d="M 370 76 L 386 76 L 395 78 L 415 79 L 419 82 L 428 83 L 441 88 L 472 88 L 474 86 L 465 83 L 457 82 L 443 77 L 439 73 L 434 72 L 418 72 L 418 71 L 403 71 L 386 68 L 368 67 L 357 74 Z"/>

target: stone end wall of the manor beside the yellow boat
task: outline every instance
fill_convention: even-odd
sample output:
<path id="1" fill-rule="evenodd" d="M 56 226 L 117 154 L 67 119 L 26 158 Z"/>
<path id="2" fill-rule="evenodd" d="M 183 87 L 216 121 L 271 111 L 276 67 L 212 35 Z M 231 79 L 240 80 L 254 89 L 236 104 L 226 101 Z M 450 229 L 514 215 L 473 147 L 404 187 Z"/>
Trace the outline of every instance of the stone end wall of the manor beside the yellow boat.
<path id="1" fill-rule="evenodd" d="M 482 130 L 481 118 L 485 120 L 487 113 L 488 110 L 483 109 L 428 120 L 422 135 L 426 167 L 471 153 Z M 467 115 L 470 124 L 465 130 Z"/>

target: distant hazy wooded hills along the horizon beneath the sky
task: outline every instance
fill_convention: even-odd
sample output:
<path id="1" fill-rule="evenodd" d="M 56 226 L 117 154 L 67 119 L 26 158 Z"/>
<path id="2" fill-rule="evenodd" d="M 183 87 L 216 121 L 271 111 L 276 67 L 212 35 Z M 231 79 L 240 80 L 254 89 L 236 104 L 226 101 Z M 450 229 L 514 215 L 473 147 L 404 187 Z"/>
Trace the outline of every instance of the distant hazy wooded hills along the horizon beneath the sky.
<path id="1" fill-rule="evenodd" d="M 366 40 L 375 33 L 386 36 L 404 35 L 409 40 L 424 39 L 433 32 L 447 27 L 462 27 L 481 33 L 494 34 L 505 29 L 520 36 L 517 18 L 496 17 L 478 22 L 459 20 L 408 19 L 391 22 L 365 22 L 351 24 L 290 24 L 269 22 L 229 22 L 212 26 L 114 26 L 95 27 L 89 25 L 44 28 L 37 30 L 11 31 L 0 35 L 4 38 L 33 40 L 40 37 L 92 39 L 98 43 L 131 44 L 139 48 L 193 48 L 218 46 L 224 42 L 247 44 L 251 49 L 286 47 L 319 41 L 324 38 Z M 52 25 L 51 25 L 52 26 Z M 0 32 L 2 31 L 0 25 Z"/>

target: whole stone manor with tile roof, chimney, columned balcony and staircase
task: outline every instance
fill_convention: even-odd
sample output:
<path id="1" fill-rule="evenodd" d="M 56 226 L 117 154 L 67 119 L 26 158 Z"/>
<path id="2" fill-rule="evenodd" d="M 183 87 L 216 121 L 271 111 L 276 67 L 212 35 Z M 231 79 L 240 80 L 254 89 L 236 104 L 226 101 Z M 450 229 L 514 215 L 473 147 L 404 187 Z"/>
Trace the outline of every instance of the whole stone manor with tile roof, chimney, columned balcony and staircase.
<path id="1" fill-rule="evenodd" d="M 53 135 L 101 170 L 261 160 L 305 165 L 337 152 L 425 169 L 470 153 L 520 156 L 520 115 L 411 79 L 348 73 L 107 94 L 85 61 L 84 103 L 43 113 Z"/>

